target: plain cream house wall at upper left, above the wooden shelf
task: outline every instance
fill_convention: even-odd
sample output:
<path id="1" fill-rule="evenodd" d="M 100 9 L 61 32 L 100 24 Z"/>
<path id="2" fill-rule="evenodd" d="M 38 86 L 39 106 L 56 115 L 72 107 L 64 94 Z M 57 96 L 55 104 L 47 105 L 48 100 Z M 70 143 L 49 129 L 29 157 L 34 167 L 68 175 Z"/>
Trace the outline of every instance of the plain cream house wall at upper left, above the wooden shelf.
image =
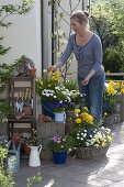
<path id="1" fill-rule="evenodd" d="M 1 4 L 16 4 L 20 0 L 1 0 Z M 12 22 L 9 29 L 0 28 L 2 44 L 10 46 L 10 52 L 1 57 L 1 63 L 13 63 L 21 55 L 31 58 L 41 75 L 42 46 L 41 46 L 41 1 L 35 0 L 33 8 L 25 15 L 10 15 L 5 21 Z"/>

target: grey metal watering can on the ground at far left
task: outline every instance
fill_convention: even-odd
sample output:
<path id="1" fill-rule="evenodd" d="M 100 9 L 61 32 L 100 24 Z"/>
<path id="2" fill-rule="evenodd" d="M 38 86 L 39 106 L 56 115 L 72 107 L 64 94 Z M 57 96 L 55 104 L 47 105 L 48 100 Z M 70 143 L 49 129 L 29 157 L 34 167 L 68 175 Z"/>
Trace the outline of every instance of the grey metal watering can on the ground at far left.
<path id="1" fill-rule="evenodd" d="M 12 150 L 9 150 L 11 145 Z M 16 173 L 20 169 L 20 148 L 21 143 L 15 147 L 14 141 L 8 142 L 7 170 L 11 173 Z"/>

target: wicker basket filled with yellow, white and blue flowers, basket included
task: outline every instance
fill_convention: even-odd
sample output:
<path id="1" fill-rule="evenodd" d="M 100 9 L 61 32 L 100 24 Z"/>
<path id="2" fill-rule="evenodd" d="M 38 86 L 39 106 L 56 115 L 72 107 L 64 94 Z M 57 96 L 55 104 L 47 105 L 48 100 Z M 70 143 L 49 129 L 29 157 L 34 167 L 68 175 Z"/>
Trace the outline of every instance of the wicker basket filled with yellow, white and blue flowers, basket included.
<path id="1" fill-rule="evenodd" d="M 98 127 L 88 109 L 76 109 L 77 118 L 72 122 L 71 134 L 75 139 L 78 158 L 98 158 L 104 156 L 112 142 L 111 130 Z"/>

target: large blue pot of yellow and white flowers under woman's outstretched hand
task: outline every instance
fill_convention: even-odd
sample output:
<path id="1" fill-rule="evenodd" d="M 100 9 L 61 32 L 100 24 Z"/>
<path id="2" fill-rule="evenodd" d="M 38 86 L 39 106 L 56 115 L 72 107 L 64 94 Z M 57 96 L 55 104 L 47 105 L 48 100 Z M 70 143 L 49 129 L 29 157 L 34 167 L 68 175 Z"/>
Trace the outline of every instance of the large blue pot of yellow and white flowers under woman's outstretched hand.
<path id="1" fill-rule="evenodd" d="M 54 109 L 59 102 L 69 101 L 69 90 L 63 85 L 61 73 L 44 70 L 36 79 L 36 91 L 41 98 L 43 114 L 55 118 Z"/>

